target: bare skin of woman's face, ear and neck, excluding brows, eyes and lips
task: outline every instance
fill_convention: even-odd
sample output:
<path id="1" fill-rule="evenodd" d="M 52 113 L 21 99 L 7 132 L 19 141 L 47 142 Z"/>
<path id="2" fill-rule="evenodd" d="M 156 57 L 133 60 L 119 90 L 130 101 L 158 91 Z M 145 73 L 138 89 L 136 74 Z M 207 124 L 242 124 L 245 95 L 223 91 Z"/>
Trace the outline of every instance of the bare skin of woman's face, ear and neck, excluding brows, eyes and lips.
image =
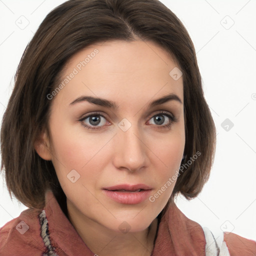
<path id="1" fill-rule="evenodd" d="M 95 48 L 98 53 L 78 70 L 77 64 Z M 102 188 L 143 183 L 152 187 L 150 195 L 154 195 L 176 174 L 185 144 L 182 76 L 174 80 L 169 75 L 177 66 L 151 41 L 93 44 L 70 58 L 60 80 L 73 68 L 78 73 L 51 99 L 52 144 L 43 132 L 35 149 L 43 159 L 52 161 L 67 197 L 70 222 L 100 256 L 141 256 L 152 251 L 156 216 L 175 181 L 154 202 L 146 199 L 138 204 L 116 202 Z M 169 93 L 176 94 L 181 103 L 170 100 L 148 108 L 150 101 Z M 109 109 L 87 101 L 69 105 L 81 95 L 111 100 L 119 107 Z M 160 115 L 163 123 L 157 124 L 154 116 L 161 110 L 174 115 L 176 121 Z M 82 125 L 93 127 L 89 117 L 79 119 L 94 111 L 106 118 L 99 116 L 100 123 L 94 125 L 99 128 L 92 130 Z M 118 126 L 123 118 L 131 124 L 126 131 Z M 169 122 L 170 127 L 163 127 Z M 74 183 L 67 178 L 72 169 L 80 175 Z M 122 222 L 128 223 L 127 233 L 119 229 Z"/>

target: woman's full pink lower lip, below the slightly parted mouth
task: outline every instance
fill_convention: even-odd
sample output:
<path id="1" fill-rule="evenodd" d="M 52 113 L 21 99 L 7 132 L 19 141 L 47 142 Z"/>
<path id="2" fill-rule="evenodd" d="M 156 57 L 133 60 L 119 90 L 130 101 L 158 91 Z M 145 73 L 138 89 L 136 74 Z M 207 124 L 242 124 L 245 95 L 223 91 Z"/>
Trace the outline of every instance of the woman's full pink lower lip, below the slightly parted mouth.
<path id="1" fill-rule="evenodd" d="M 105 194 L 113 200 L 124 204 L 137 204 L 149 197 L 151 189 L 140 192 L 111 191 L 103 189 Z"/>

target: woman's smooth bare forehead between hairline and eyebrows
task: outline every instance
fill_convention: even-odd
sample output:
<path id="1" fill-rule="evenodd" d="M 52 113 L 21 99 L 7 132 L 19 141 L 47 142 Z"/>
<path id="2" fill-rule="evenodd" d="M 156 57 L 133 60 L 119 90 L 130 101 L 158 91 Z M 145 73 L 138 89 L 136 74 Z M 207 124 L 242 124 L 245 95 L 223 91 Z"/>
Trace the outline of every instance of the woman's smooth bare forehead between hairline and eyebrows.
<path id="1" fill-rule="evenodd" d="M 97 43 L 69 59 L 58 81 L 64 86 L 57 97 L 67 103 L 81 93 L 115 101 L 175 93 L 183 101 L 182 76 L 172 76 L 177 68 L 168 52 L 152 41 Z"/>

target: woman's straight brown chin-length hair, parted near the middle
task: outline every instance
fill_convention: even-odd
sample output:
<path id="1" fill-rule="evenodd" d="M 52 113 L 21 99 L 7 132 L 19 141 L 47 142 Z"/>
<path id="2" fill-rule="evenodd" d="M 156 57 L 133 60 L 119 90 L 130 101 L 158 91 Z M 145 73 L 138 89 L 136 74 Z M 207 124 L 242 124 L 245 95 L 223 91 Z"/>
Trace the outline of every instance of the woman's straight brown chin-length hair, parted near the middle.
<path id="1" fill-rule="evenodd" d="M 15 86 L 1 126 L 1 171 L 11 192 L 24 205 L 41 209 L 51 189 L 65 201 L 51 161 L 42 159 L 34 141 L 45 128 L 49 94 L 68 59 L 77 51 L 106 40 L 151 40 L 175 60 L 183 75 L 186 161 L 172 195 L 195 197 L 209 177 L 215 153 L 215 126 L 204 99 L 193 43 L 181 21 L 158 0 L 69 0 L 54 8 L 24 50 Z M 49 132 L 48 132 L 49 134 Z M 189 160 L 188 160 L 189 161 Z"/>

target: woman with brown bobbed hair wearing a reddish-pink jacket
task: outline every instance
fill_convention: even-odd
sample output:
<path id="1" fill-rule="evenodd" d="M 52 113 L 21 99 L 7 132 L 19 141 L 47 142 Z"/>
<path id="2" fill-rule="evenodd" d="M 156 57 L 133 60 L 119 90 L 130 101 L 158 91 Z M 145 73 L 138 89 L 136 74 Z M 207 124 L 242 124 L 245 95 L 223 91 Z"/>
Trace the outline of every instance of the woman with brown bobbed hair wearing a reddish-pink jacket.
<path id="1" fill-rule="evenodd" d="M 3 116 L 1 169 L 29 209 L 0 229 L 0 255 L 255 255 L 174 203 L 201 191 L 214 152 L 179 19 L 157 0 L 69 0 L 25 49 Z"/>

